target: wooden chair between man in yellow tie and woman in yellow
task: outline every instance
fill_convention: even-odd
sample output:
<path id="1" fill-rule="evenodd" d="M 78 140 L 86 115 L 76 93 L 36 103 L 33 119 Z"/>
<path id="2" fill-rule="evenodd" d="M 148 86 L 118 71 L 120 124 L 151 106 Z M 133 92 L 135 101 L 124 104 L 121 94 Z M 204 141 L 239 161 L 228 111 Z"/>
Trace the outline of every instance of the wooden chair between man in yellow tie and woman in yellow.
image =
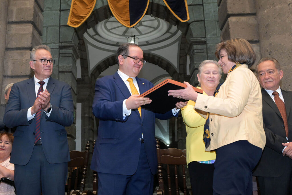
<path id="1" fill-rule="evenodd" d="M 157 195 L 171 195 L 171 172 L 170 165 L 174 165 L 174 180 L 175 180 L 175 192 L 177 195 L 180 194 L 179 181 L 178 181 L 178 165 L 182 165 L 183 172 L 183 193 L 187 195 L 187 186 L 185 180 L 185 165 L 187 165 L 187 158 L 185 150 L 177 148 L 167 148 L 164 150 L 160 149 L 159 141 L 156 140 L 156 151 L 158 159 L 158 183 L 159 189 L 157 189 Z M 162 165 L 167 165 L 167 181 L 168 189 L 164 189 L 164 180 L 162 174 Z"/>

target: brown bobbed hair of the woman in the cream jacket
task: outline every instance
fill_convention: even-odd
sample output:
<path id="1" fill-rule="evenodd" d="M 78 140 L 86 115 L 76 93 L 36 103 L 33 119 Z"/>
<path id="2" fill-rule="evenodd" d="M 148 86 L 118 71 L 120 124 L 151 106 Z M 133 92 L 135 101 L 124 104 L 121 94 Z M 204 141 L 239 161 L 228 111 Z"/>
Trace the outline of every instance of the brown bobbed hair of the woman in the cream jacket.
<path id="1" fill-rule="evenodd" d="M 225 49 L 228 60 L 234 63 L 244 63 L 251 67 L 256 61 L 256 53 L 251 44 L 241 38 L 227 40 L 216 45 L 215 55 L 220 59 L 220 50 Z"/>

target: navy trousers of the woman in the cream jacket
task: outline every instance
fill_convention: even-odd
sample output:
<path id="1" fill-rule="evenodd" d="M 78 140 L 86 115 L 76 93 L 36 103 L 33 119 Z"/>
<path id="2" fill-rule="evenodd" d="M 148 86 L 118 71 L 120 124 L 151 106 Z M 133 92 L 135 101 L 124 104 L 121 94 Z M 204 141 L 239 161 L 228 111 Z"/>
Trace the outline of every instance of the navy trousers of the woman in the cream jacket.
<path id="1" fill-rule="evenodd" d="M 263 150 L 247 140 L 216 149 L 213 195 L 252 194 L 252 170 Z"/>

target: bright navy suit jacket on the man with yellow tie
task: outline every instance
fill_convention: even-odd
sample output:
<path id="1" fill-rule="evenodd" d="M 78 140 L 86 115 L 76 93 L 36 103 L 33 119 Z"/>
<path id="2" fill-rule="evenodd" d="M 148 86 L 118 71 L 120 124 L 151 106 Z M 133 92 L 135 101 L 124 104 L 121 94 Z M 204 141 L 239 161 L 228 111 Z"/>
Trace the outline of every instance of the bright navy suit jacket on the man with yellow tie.
<path id="1" fill-rule="evenodd" d="M 146 79 L 136 77 L 136 80 L 140 94 L 154 86 Z M 123 119 L 122 104 L 130 96 L 130 91 L 117 72 L 96 81 L 92 110 L 100 121 L 91 169 L 103 173 L 133 175 L 138 166 L 140 138 L 143 133 L 150 169 L 153 174 L 157 172 L 155 117 L 169 119 L 173 117 L 173 113 L 169 111 L 156 114 L 142 108 L 141 119 L 138 109 L 132 109 L 131 114 Z"/>

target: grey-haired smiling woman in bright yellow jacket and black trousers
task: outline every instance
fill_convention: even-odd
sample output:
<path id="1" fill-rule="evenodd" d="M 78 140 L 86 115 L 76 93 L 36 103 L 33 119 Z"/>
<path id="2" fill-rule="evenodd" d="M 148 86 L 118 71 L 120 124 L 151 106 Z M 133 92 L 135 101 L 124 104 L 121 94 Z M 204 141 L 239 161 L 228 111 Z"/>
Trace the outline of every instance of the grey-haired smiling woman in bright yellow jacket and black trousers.
<path id="1" fill-rule="evenodd" d="M 201 87 L 197 88 L 203 89 L 204 95 L 213 96 L 219 84 L 221 73 L 222 69 L 216 61 L 203 61 L 199 65 L 197 74 Z M 187 106 L 182 108 L 183 120 L 187 131 L 187 165 L 190 172 L 192 194 L 211 195 L 216 153 L 215 151 L 205 151 L 203 133 L 206 119 L 201 115 L 206 115 L 207 113 L 194 110 L 194 106 L 195 102 L 190 100 Z"/>

